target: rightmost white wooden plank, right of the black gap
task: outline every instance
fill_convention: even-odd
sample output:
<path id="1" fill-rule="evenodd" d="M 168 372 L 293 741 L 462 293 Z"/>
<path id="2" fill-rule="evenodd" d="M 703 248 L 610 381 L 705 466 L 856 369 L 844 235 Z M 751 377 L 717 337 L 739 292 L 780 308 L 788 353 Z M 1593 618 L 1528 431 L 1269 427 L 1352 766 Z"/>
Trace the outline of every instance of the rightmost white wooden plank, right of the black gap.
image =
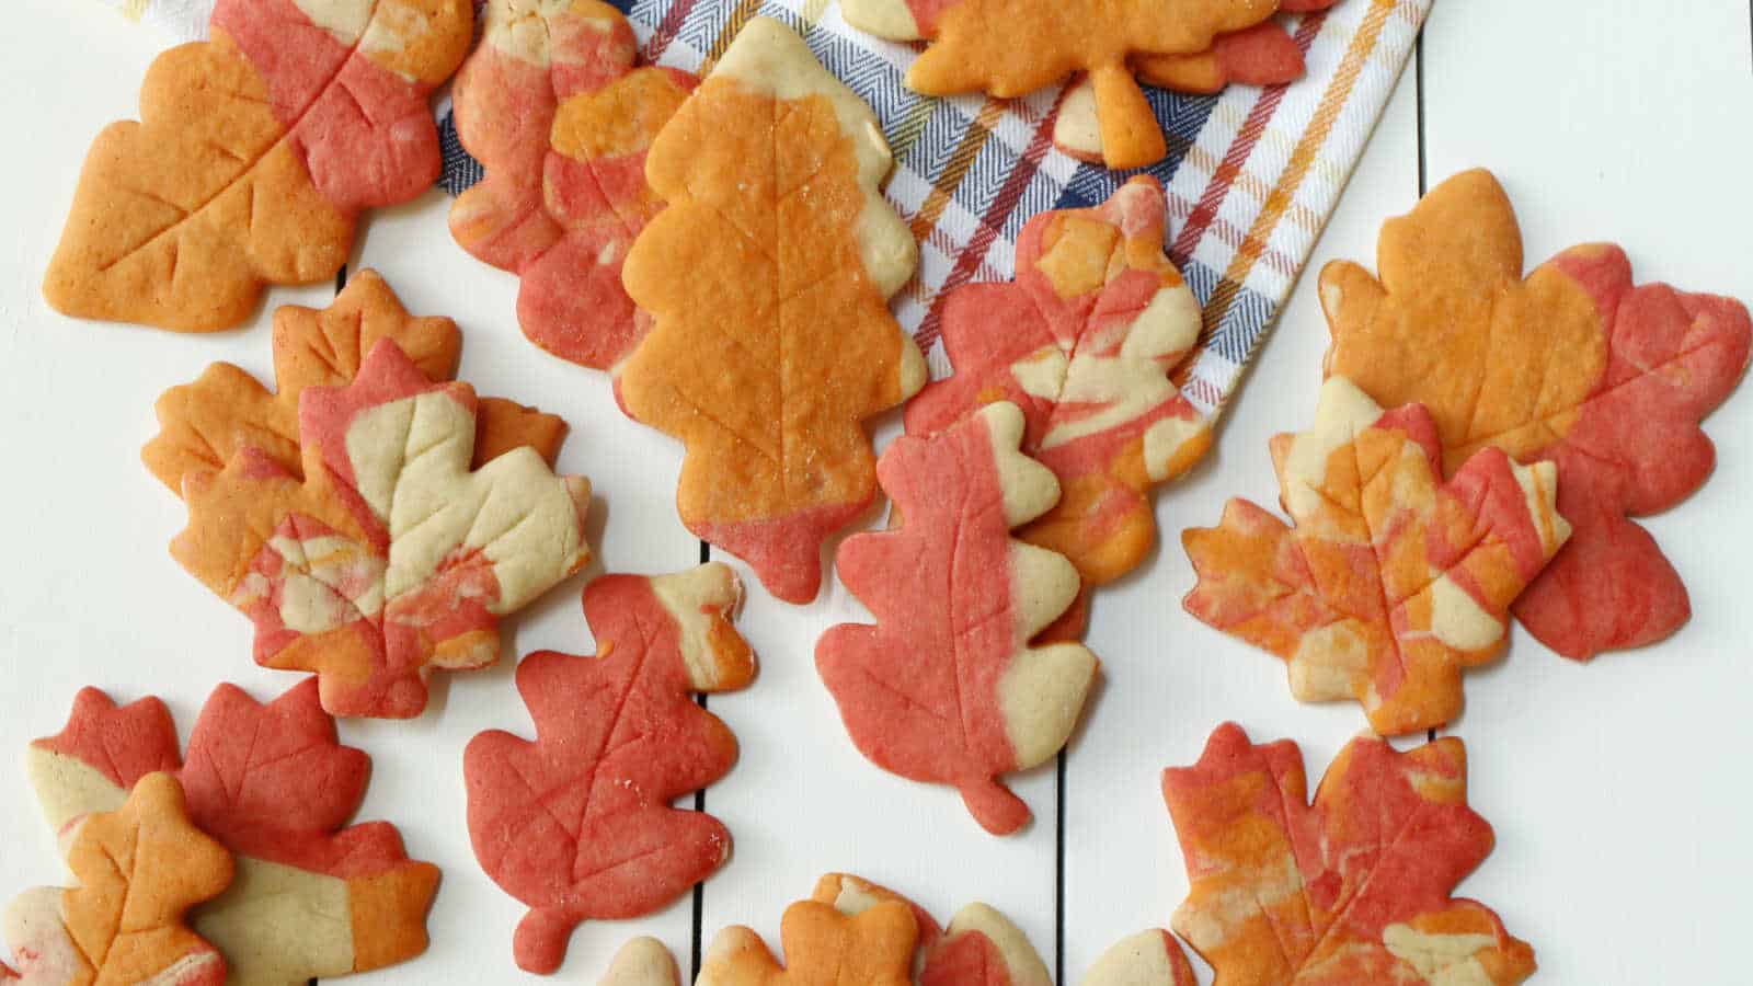
<path id="1" fill-rule="evenodd" d="M 1749 65 L 1741 0 L 1441 2 L 1425 32 L 1430 177 L 1494 168 L 1529 263 L 1616 240 L 1641 281 L 1753 300 Z M 1471 675 L 1453 732 L 1497 851 L 1462 893 L 1534 944 L 1543 982 L 1735 977 L 1753 879 L 1732 781 L 1753 742 L 1749 416 L 1742 386 L 1706 423 L 1709 484 L 1643 521 L 1692 589 L 1678 637 L 1576 665 L 1518 632 Z"/>

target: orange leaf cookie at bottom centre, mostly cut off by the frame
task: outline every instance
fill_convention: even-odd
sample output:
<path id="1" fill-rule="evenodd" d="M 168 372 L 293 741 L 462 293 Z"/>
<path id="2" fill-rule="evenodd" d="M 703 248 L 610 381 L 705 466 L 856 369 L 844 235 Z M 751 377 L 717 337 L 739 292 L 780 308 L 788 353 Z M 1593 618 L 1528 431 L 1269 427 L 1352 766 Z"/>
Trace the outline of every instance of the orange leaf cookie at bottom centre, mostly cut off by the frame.
<path id="1" fill-rule="evenodd" d="M 882 900 L 855 914 L 799 900 L 780 919 L 782 967 L 761 935 L 731 926 L 712 940 L 694 986 L 912 986 L 913 911 Z"/>

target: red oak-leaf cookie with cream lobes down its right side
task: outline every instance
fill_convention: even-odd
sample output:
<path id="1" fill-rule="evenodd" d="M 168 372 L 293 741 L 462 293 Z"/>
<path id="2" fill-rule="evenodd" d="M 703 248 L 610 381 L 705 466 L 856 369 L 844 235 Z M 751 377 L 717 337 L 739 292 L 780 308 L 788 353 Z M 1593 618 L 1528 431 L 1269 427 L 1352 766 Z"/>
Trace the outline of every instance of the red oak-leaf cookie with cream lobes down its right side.
<path id="1" fill-rule="evenodd" d="M 838 554 L 876 625 L 841 623 L 815 646 L 859 751 L 957 788 L 997 835 L 1029 821 L 997 777 L 1052 760 L 1096 679 L 1083 646 L 1029 646 L 1080 582 L 1064 556 L 1010 537 L 1059 498 L 1054 474 L 1017 451 L 1022 433 L 1022 412 L 999 402 L 889 446 L 876 472 L 905 523 L 848 537 Z"/>

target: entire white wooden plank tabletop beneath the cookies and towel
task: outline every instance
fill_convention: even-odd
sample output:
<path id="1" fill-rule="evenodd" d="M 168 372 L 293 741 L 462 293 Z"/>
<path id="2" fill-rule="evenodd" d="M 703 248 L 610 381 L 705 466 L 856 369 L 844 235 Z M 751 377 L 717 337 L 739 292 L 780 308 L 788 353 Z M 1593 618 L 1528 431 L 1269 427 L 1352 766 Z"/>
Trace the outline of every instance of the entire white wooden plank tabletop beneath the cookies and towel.
<path id="1" fill-rule="evenodd" d="M 296 677 L 249 660 L 251 626 L 182 574 L 163 546 L 182 504 L 140 465 L 167 386 L 230 360 L 268 377 L 266 311 L 254 328 L 175 337 L 68 321 L 39 282 L 86 146 L 133 116 L 156 54 L 151 32 L 84 0 L 11 0 L 0 32 L 0 749 L 60 730 L 74 691 L 161 695 L 184 733 L 207 691 L 233 681 L 258 698 Z M 1530 261 L 1585 240 L 1622 242 L 1641 279 L 1753 300 L 1753 9 L 1744 0 L 1437 0 L 1345 200 L 1315 251 L 1373 261 L 1380 223 L 1425 182 L 1474 165 L 1515 198 Z M 515 330 L 515 282 L 463 254 L 442 193 L 377 214 L 352 268 L 375 267 L 417 314 L 465 328 L 463 379 L 571 421 L 564 472 L 593 479 L 601 570 L 663 572 L 701 556 L 675 518 L 680 453 L 624 419 L 598 374 L 542 356 Z M 323 305 L 330 288 L 277 289 L 268 305 Z M 891 777 L 852 749 L 812 651 L 831 623 L 862 616 L 838 586 L 808 607 L 745 577 L 742 628 L 761 653 L 756 686 L 712 707 L 742 761 L 706 793 L 736 854 L 692 900 L 645 921 L 587 925 L 557 981 L 594 982 L 628 935 L 656 933 L 684 974 L 701 935 L 747 923 L 777 942 L 785 904 L 815 877 L 850 870 L 948 918 L 985 900 L 1031 935 L 1064 982 L 1124 933 L 1159 926 L 1187 882 L 1157 788 L 1197 758 L 1210 730 L 1243 723 L 1257 740 L 1302 744 L 1311 777 L 1364 721 L 1357 707 L 1302 707 L 1281 665 L 1180 609 L 1192 574 L 1175 535 L 1210 525 L 1222 502 L 1274 502 L 1271 433 L 1315 405 L 1325 323 L 1304 277 L 1232 405 L 1210 463 L 1162 493 L 1166 546 L 1096 604 L 1090 646 L 1104 684 L 1062 772 L 1017 790 L 1036 823 L 982 833 L 955 795 Z M 892 433 L 891 423 L 885 433 Z M 1692 588 L 1695 616 L 1674 640 L 1576 665 L 1518 633 L 1509 658 L 1467 681 L 1455 725 L 1471 753 L 1473 804 L 1497 851 L 1460 891 L 1495 907 L 1534 944 L 1537 982 L 1735 982 L 1746 977 L 1753 905 L 1753 386 L 1709 423 L 1713 481 L 1646 521 Z M 603 518 L 607 516 L 607 530 Z M 582 577 L 514 621 L 514 653 L 589 653 Z M 512 663 L 438 682 L 412 723 L 345 723 L 375 758 L 361 818 L 401 826 L 408 849 L 444 867 L 422 960 L 366 977 L 512 982 L 522 907 L 477 867 L 463 825 L 463 744 L 479 730 L 529 733 Z M 1062 786 L 1061 786 L 1062 782 Z M 19 756 L 0 756 L 0 897 L 60 882 Z M 1208 975 L 1208 974 L 1206 974 Z M 528 977 L 535 981 L 535 977 Z"/>

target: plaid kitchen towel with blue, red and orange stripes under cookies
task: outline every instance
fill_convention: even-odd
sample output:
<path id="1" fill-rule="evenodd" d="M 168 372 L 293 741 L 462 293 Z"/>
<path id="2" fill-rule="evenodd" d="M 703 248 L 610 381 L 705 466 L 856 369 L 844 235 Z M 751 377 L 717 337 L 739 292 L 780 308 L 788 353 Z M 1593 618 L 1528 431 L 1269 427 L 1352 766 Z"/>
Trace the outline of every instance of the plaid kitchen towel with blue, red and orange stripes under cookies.
<path id="1" fill-rule="evenodd" d="M 212 0 L 103 0 L 165 25 L 179 39 L 205 35 Z M 1054 2 L 1054 0 L 1040 0 Z M 479 4 L 479 0 L 477 0 Z M 920 275 L 898 314 L 931 354 L 940 302 L 971 281 L 1006 281 L 1022 225 L 1048 209 L 1094 205 L 1131 174 L 1083 165 L 1052 146 L 1059 91 L 1024 100 L 920 96 L 901 84 L 917 58 L 847 26 L 829 0 L 614 0 L 661 65 L 701 70 L 757 14 L 805 35 L 817 58 L 884 121 L 894 146 L 889 198 L 920 240 Z M 1432 0 L 1343 0 L 1324 14 L 1288 19 L 1308 77 L 1266 89 L 1231 86 L 1217 96 L 1146 89 L 1169 137 L 1167 160 L 1146 168 L 1167 189 L 1171 256 L 1204 304 L 1201 351 L 1182 381 L 1203 412 L 1232 395 L 1308 261 L 1359 154 L 1394 91 Z M 480 181 L 440 105 L 452 195 Z"/>

